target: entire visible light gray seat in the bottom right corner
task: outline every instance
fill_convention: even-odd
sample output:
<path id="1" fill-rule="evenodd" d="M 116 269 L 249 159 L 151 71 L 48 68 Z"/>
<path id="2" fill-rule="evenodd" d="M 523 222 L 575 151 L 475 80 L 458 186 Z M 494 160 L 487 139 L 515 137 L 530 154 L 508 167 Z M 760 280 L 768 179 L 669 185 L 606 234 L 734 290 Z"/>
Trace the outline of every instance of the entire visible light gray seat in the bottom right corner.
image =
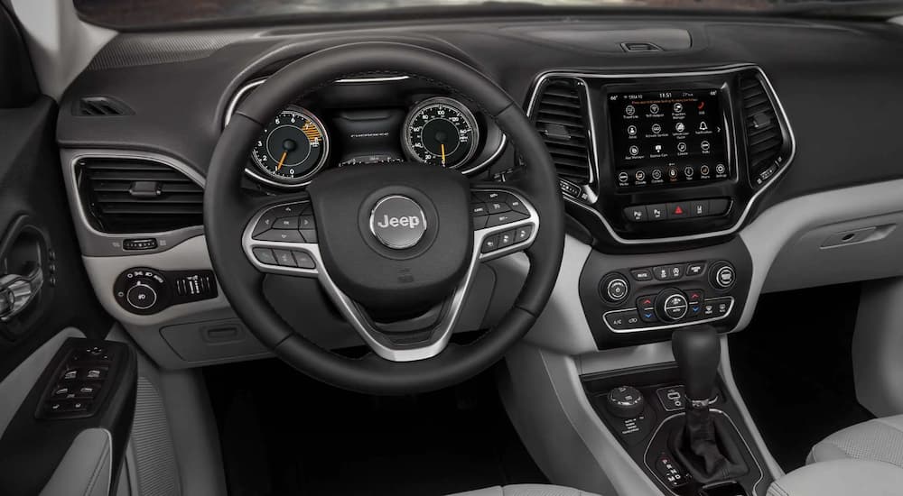
<path id="1" fill-rule="evenodd" d="M 827 436 L 807 465 L 768 488 L 768 496 L 890 496 L 903 493 L 903 415 L 875 418 Z"/>

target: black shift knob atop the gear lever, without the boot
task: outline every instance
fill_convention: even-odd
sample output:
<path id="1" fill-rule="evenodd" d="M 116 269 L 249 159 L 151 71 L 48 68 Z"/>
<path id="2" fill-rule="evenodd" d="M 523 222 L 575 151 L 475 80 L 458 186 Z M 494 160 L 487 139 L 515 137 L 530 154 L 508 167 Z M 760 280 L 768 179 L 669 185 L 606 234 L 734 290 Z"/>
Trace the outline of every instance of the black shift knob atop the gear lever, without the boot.
<path id="1" fill-rule="evenodd" d="M 710 326 L 690 327 L 671 335 L 677 368 L 684 379 L 687 400 L 709 400 L 715 389 L 721 344 Z"/>

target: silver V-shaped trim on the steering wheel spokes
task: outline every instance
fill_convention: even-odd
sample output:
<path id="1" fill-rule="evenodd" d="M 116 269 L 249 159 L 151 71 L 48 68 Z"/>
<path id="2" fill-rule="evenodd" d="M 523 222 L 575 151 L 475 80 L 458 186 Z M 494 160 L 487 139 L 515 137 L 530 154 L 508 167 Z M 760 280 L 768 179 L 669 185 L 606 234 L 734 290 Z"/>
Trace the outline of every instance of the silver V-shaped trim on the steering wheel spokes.
<path id="1" fill-rule="evenodd" d="M 275 207 L 306 203 L 306 200 L 275 203 L 261 208 L 255 214 L 255 216 L 251 218 L 250 222 L 248 222 L 247 226 L 245 227 L 245 232 L 242 235 L 242 247 L 245 250 L 245 255 L 247 256 L 248 261 L 250 261 L 258 271 L 317 278 L 318 280 L 320 280 L 323 289 L 326 290 L 327 294 L 329 294 L 330 296 L 330 299 L 332 299 L 336 306 L 339 307 L 342 316 L 344 316 L 348 320 L 349 324 L 358 332 L 358 335 L 363 338 L 363 340 L 370 346 L 370 349 L 372 349 L 377 355 L 392 362 L 414 362 L 417 360 L 424 360 L 442 353 L 442 350 L 445 349 L 445 347 L 449 343 L 449 340 L 452 338 L 454 326 L 458 323 L 458 318 L 461 316 L 461 310 L 464 306 L 464 299 L 466 299 L 468 293 L 470 292 L 470 286 L 472 285 L 473 280 L 476 277 L 479 263 L 488 262 L 489 260 L 497 259 L 510 253 L 525 250 L 535 241 L 536 235 L 539 232 L 539 214 L 538 212 L 536 212 L 535 208 L 520 194 L 503 188 L 473 188 L 471 189 L 471 191 L 500 191 L 509 195 L 513 195 L 526 206 L 527 211 L 529 212 L 529 216 L 526 219 L 522 219 L 510 224 L 497 225 L 495 227 L 487 227 L 484 229 L 479 229 L 478 231 L 474 231 L 473 251 L 470 256 L 470 266 L 465 272 L 463 279 L 458 284 L 458 287 L 455 289 L 452 298 L 446 302 L 447 309 L 444 311 L 440 322 L 433 327 L 433 337 L 431 338 L 430 343 L 417 348 L 395 348 L 382 343 L 379 339 L 374 337 L 374 335 L 378 334 L 377 329 L 375 329 L 370 324 L 368 318 L 363 315 L 354 300 L 350 299 L 348 295 L 346 295 L 341 289 L 339 289 L 338 286 L 336 286 L 335 281 L 332 280 L 329 272 L 326 271 L 326 267 L 323 265 L 323 260 L 320 253 L 320 245 L 318 243 L 280 243 L 260 241 L 252 237 L 257 221 L 260 219 L 260 217 L 264 216 L 267 211 Z M 314 216 L 316 216 L 316 213 L 314 213 Z M 486 237 L 493 234 L 511 231 L 525 225 L 533 226 L 533 233 L 530 234 L 529 239 L 527 239 L 526 241 L 513 243 L 510 246 L 499 249 L 495 252 L 480 253 L 480 248 L 482 247 L 483 240 L 485 240 Z M 253 252 L 255 248 L 303 251 L 311 255 L 311 258 L 313 259 L 313 262 L 316 264 L 316 266 L 313 269 L 301 269 L 297 267 L 266 265 L 265 263 L 257 261 Z"/>

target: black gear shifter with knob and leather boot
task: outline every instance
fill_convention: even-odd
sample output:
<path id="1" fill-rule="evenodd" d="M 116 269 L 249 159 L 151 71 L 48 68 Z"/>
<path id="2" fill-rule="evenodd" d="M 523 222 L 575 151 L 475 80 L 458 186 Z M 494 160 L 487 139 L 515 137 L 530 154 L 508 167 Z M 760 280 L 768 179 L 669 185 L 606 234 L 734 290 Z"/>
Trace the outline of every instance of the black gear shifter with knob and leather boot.
<path id="1" fill-rule="evenodd" d="M 671 346 L 687 400 L 685 426 L 670 438 L 675 458 L 701 483 L 727 481 L 749 472 L 736 431 L 723 416 L 709 411 L 721 359 L 715 329 L 697 326 L 675 331 Z"/>

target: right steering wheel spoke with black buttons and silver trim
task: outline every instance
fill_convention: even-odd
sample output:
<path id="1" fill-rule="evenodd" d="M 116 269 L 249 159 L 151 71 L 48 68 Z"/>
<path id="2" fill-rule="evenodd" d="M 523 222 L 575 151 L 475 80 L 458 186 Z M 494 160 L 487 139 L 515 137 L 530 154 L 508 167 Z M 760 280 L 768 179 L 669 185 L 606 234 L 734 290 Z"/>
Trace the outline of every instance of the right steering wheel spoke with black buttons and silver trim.
<path id="1" fill-rule="evenodd" d="M 522 252 L 539 232 L 539 214 L 521 192 L 507 188 L 473 188 L 474 253 L 479 262 Z"/>

